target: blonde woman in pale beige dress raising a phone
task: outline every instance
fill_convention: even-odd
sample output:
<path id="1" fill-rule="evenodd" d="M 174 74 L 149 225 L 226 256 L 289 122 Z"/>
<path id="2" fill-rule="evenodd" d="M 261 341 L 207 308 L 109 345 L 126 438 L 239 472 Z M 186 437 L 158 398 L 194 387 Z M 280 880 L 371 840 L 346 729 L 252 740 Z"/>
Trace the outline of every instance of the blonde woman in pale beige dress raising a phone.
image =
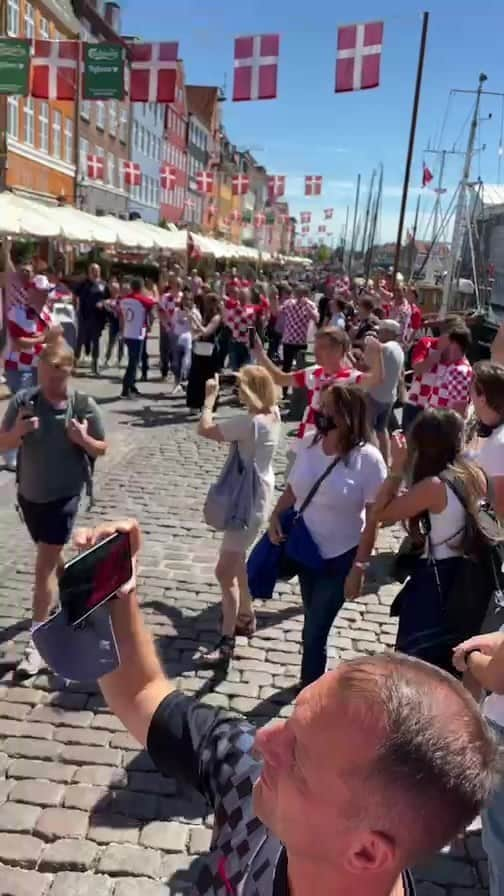
<path id="1" fill-rule="evenodd" d="M 246 413 L 229 420 L 214 422 L 217 379 L 207 380 L 203 413 L 198 435 L 214 442 L 235 442 L 244 463 L 254 463 L 260 488 L 252 509 L 253 523 L 244 531 L 224 532 L 215 569 L 222 589 L 222 632 L 215 650 L 201 659 L 205 665 L 227 666 L 233 656 L 235 636 L 250 637 L 255 631 L 247 582 L 246 555 L 269 518 L 273 505 L 275 476 L 273 456 L 280 439 L 280 414 L 277 393 L 269 373 L 248 365 L 237 374 L 238 395 Z"/>

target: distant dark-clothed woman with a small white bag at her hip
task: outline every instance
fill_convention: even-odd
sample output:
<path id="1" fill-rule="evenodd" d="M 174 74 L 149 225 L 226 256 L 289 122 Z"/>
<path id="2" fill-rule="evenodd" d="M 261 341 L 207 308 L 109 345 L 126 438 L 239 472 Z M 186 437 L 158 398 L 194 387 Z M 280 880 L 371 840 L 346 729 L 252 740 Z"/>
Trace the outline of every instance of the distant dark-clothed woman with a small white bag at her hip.
<path id="1" fill-rule="evenodd" d="M 187 407 L 201 411 L 205 384 L 219 371 L 217 339 L 222 325 L 222 303 L 215 293 L 204 297 L 202 322 L 193 324 L 192 362 L 187 383 Z"/>

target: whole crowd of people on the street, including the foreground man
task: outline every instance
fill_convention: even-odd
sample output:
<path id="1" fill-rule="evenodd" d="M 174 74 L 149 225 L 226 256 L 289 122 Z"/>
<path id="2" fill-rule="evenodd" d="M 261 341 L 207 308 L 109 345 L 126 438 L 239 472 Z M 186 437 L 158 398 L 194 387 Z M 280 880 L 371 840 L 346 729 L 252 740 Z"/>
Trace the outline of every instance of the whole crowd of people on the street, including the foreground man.
<path id="1" fill-rule="evenodd" d="M 93 264 L 73 290 L 73 351 L 51 311 L 54 279 L 34 275 L 26 259 L 6 275 L 4 363 L 13 397 L 0 451 L 16 470 L 20 513 L 37 545 L 33 621 L 47 619 L 57 601 L 62 552 L 107 447 L 98 406 L 71 385 L 82 350 L 97 376 L 120 365 L 126 350 L 123 398 L 139 394 L 139 370 L 143 380 L 170 376 L 171 394 L 198 412 L 198 436 L 227 443 L 228 469 L 237 452 L 240 475 L 252 483 L 240 493 L 245 519 L 237 524 L 234 507 L 220 526 L 222 628 L 195 663 L 225 673 L 236 638 L 254 635 L 253 598 L 268 596 L 250 586 L 262 539 L 290 551 L 289 575 L 299 579 L 300 694 L 292 720 L 257 734 L 262 770 L 249 755 L 250 726 L 173 693 L 143 632 L 134 587 L 112 608 L 122 662 L 101 682 L 107 701 L 161 770 L 174 752 L 182 755 L 184 774 L 220 819 L 198 892 L 235 892 L 245 874 L 264 894 L 287 893 L 289 880 L 295 893 L 406 896 L 414 891 L 404 869 L 483 807 L 491 894 L 502 896 L 504 780 L 495 740 L 504 745 L 504 331 L 491 359 L 472 365 L 467 322 L 422 315 L 414 285 L 399 280 L 352 283 L 332 268 L 268 276 L 233 268 L 205 279 L 174 265 L 158 283 L 105 283 Z M 156 319 L 159 372 L 149 357 Z M 216 414 L 222 373 L 233 375 L 230 397 L 241 406 L 224 417 Z M 302 419 L 275 495 L 282 415 L 296 393 Z M 405 529 L 394 566 L 402 583 L 391 608 L 396 654 L 327 673 L 336 616 L 362 593 L 380 527 L 395 523 Z M 107 531 L 81 533 L 79 543 Z M 127 531 L 136 554 L 138 527 Z M 479 566 L 482 584 L 464 596 L 469 564 Z M 34 675 L 42 663 L 30 642 L 18 674 Z M 350 791 L 346 776 L 355 782 Z"/>

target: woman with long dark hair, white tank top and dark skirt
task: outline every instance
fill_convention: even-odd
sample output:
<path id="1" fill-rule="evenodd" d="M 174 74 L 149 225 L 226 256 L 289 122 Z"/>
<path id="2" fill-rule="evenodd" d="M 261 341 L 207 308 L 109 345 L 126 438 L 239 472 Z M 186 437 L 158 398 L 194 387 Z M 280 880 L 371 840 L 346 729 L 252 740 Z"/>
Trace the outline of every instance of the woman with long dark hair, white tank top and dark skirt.
<path id="1" fill-rule="evenodd" d="M 375 504 L 377 520 L 387 525 L 404 522 L 418 548 L 411 574 L 391 607 L 391 615 L 399 616 L 396 649 L 452 674 L 457 638 L 450 630 L 446 604 L 463 562 L 466 513 L 446 479 L 456 479 L 474 512 L 486 493 L 483 472 L 463 451 L 460 415 L 424 411 L 408 442 L 400 433 L 392 436 L 391 470 Z M 398 495 L 404 479 L 408 489 Z"/>

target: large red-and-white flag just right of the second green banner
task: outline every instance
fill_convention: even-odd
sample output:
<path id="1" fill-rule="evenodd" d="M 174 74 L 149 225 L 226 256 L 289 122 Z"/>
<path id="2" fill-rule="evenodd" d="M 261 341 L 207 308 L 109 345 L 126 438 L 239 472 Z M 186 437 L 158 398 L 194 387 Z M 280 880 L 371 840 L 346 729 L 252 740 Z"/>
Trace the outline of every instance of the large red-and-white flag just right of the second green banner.
<path id="1" fill-rule="evenodd" d="M 177 86 L 178 43 L 128 45 L 132 103 L 173 103 Z"/>

